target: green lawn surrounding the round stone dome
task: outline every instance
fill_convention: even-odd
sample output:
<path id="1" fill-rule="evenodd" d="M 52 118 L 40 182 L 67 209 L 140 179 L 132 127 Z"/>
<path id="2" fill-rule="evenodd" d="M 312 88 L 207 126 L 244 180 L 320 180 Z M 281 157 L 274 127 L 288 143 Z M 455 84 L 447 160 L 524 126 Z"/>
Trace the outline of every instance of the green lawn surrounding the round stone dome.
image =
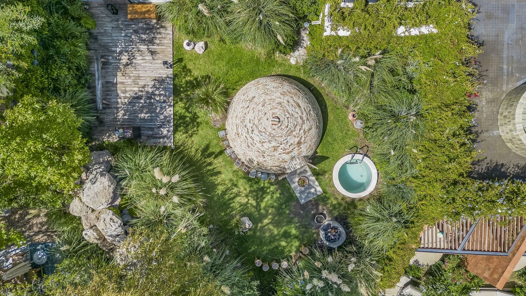
<path id="1" fill-rule="evenodd" d="M 329 208 L 333 214 L 351 208 L 349 199 L 336 195 L 332 185 L 332 167 L 345 153 L 356 145 L 358 133 L 347 119 L 348 111 L 329 98 L 315 81 L 308 79 L 302 68 L 291 65 L 287 59 L 274 57 L 262 59 L 255 52 L 236 45 L 209 41 L 208 50 L 199 55 L 194 50 L 184 50 L 184 36 L 175 35 L 174 40 L 174 98 L 175 137 L 187 139 L 196 147 L 204 149 L 216 167 L 213 177 L 218 184 L 237 189 L 235 202 L 241 215 L 248 216 L 254 226 L 245 236 L 239 235 L 238 250 L 246 257 L 258 257 L 271 262 L 274 258 L 286 258 L 299 250 L 301 244 L 311 244 L 316 233 L 311 227 L 310 213 L 299 214 L 299 201 L 286 179 L 261 181 L 249 178 L 224 154 L 217 135 L 203 111 L 196 111 L 188 98 L 200 77 L 213 75 L 236 85 L 236 90 L 258 77 L 281 74 L 297 79 L 311 89 L 323 114 L 324 135 L 313 163 L 313 170 L 325 193 L 315 201 Z M 213 194 L 214 190 L 206 190 Z M 313 201 L 310 201 L 313 202 Z M 214 212 L 214 208 L 207 209 Z M 277 260 L 277 259 L 276 259 Z"/>

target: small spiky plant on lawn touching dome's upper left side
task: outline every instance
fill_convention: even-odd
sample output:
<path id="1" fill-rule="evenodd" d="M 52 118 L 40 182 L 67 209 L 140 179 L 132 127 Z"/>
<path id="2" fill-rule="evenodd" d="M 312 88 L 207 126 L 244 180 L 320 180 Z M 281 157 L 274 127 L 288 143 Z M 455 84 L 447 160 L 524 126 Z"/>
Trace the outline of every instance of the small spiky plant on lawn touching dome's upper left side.
<path id="1" fill-rule="evenodd" d="M 201 84 L 194 90 L 192 96 L 195 103 L 210 111 L 212 115 L 226 118 L 232 88 L 214 77 L 200 81 Z"/>

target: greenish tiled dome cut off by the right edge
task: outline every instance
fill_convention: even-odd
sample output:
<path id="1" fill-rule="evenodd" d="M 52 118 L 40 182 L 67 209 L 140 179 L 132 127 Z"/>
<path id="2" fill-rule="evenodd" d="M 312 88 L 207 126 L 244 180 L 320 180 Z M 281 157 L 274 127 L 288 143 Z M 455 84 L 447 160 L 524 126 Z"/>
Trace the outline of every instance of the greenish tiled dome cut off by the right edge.
<path id="1" fill-rule="evenodd" d="M 498 115 L 502 139 L 515 153 L 526 157 L 526 132 L 523 110 L 526 104 L 526 83 L 515 87 L 502 100 Z"/>

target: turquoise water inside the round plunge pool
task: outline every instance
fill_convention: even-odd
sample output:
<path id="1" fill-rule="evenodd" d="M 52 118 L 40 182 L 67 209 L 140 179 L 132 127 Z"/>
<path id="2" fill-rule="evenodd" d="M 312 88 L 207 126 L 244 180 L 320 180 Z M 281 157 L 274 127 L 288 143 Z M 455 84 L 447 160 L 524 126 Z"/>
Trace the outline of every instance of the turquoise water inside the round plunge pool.
<path id="1" fill-rule="evenodd" d="M 372 179 L 371 168 L 365 161 L 359 163 L 353 160 L 352 164 L 346 162 L 338 171 L 341 187 L 351 193 L 360 193 L 367 189 Z"/>

